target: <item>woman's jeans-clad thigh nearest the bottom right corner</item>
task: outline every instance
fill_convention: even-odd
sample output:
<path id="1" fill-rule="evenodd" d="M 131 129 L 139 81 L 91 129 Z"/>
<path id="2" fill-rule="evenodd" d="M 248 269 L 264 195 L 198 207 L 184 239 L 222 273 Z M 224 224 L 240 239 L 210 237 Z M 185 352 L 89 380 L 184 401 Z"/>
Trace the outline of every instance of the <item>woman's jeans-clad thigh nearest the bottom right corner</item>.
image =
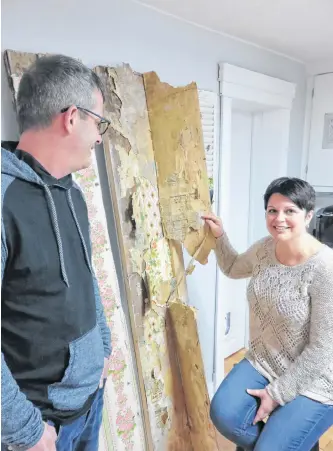
<path id="1" fill-rule="evenodd" d="M 319 438 L 332 425 L 333 406 L 298 396 L 272 413 L 254 450 L 314 451 L 319 449 Z"/>

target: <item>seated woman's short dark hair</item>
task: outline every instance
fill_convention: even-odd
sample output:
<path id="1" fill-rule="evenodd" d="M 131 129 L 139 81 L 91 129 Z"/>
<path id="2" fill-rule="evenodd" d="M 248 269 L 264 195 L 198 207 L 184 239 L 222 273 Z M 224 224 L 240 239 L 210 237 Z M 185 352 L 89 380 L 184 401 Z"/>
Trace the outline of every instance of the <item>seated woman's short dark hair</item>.
<path id="1" fill-rule="evenodd" d="M 305 180 L 292 177 L 280 177 L 273 180 L 264 195 L 265 210 L 267 210 L 268 201 L 273 194 L 288 197 L 298 208 L 307 213 L 315 208 L 316 192 Z"/>

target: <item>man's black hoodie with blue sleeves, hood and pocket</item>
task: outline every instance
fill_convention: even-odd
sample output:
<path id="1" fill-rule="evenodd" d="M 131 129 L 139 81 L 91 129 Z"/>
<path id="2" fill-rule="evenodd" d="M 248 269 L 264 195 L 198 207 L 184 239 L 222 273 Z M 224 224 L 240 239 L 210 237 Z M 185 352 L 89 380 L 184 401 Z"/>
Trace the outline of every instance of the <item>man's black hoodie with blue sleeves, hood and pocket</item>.
<path id="1" fill-rule="evenodd" d="M 42 419 L 68 423 L 89 409 L 110 332 L 72 176 L 2 149 L 1 187 L 2 441 L 30 447 Z"/>

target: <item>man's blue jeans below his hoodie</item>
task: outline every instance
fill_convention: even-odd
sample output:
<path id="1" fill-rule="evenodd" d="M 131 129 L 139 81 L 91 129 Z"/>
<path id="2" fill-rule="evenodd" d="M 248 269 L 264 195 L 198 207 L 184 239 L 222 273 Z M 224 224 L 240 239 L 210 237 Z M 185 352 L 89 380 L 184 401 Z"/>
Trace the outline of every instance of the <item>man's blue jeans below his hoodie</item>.
<path id="1" fill-rule="evenodd" d="M 60 426 L 57 451 L 98 451 L 104 388 L 99 389 L 90 410 L 73 423 Z"/>

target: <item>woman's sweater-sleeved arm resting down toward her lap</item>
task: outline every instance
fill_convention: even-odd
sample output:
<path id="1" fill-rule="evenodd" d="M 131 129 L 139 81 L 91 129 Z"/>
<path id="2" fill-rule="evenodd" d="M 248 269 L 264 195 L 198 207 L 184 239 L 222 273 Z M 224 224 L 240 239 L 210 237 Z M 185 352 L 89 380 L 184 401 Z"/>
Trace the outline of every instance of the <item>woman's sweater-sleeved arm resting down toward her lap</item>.
<path id="1" fill-rule="evenodd" d="M 309 294 L 309 343 L 288 370 L 267 387 L 280 405 L 306 392 L 333 362 L 333 259 L 320 265 Z"/>

